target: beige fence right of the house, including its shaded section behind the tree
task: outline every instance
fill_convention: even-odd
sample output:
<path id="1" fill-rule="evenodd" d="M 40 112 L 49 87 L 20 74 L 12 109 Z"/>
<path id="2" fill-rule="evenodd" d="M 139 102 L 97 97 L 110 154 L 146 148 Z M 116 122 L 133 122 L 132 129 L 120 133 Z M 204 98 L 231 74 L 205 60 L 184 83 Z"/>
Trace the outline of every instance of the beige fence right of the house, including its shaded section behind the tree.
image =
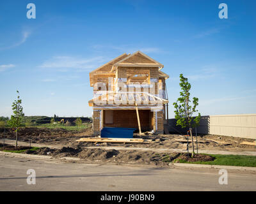
<path id="1" fill-rule="evenodd" d="M 175 119 L 169 120 L 170 131 L 181 131 Z M 256 139 L 256 114 L 202 116 L 197 132 Z"/>

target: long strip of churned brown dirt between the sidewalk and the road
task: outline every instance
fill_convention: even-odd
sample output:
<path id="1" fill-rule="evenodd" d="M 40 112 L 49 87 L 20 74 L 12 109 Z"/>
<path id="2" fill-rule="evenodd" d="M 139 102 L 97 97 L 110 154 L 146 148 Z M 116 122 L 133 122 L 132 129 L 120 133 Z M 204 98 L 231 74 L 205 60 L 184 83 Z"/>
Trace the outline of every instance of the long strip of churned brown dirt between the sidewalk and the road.
<path id="1" fill-rule="evenodd" d="M 32 154 L 49 155 L 56 158 L 60 157 L 79 157 L 86 161 L 100 161 L 111 163 L 129 163 L 129 164 L 152 164 L 157 166 L 166 166 L 176 158 L 184 158 L 180 153 L 156 153 L 138 150 L 106 150 L 106 149 L 74 149 L 72 147 L 63 147 L 62 149 L 42 148 Z M 202 157 L 198 157 L 202 158 Z"/>

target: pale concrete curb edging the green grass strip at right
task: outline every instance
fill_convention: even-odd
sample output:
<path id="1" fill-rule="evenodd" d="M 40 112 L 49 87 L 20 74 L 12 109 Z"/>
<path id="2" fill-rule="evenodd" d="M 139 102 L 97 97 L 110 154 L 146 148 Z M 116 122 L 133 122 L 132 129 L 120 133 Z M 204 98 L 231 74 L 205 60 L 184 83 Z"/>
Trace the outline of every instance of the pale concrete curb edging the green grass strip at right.
<path id="1" fill-rule="evenodd" d="M 250 166 L 225 166 L 225 165 L 211 165 L 211 164 L 188 164 L 188 163 L 169 163 L 168 166 L 184 167 L 184 168 L 211 168 L 211 169 L 225 169 L 225 170 L 243 170 L 256 171 L 256 167 Z"/>

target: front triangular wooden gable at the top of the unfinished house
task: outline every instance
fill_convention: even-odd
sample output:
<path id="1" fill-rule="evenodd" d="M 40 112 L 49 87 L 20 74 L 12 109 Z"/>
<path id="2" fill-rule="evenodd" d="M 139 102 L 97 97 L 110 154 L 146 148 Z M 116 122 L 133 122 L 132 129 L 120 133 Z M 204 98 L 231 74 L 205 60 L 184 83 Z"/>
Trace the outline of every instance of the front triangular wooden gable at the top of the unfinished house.
<path id="1" fill-rule="evenodd" d="M 143 52 L 137 51 L 134 54 L 125 57 L 124 59 L 113 64 L 115 67 L 122 66 L 137 66 L 137 67 L 161 67 L 163 68 L 163 64 L 157 62 L 152 59 L 148 55 Z"/>

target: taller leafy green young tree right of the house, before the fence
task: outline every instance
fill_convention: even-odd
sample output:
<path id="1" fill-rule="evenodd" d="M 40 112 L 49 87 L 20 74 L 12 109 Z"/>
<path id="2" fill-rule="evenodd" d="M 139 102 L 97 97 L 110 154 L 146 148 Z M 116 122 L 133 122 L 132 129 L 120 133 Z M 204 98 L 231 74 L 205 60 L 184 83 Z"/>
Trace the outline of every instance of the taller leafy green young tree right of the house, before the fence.
<path id="1" fill-rule="evenodd" d="M 188 78 L 183 77 L 182 74 L 180 74 L 180 98 L 177 99 L 177 102 L 173 103 L 173 106 L 175 108 L 175 119 L 177 120 L 177 126 L 181 126 L 182 128 L 189 128 L 190 136 L 191 136 L 191 142 L 192 142 L 192 157 L 195 155 L 194 150 L 194 142 L 193 142 L 193 134 L 192 134 L 192 128 L 195 128 L 199 126 L 200 122 L 200 113 L 196 117 L 193 117 L 192 115 L 198 110 L 196 110 L 196 106 L 198 106 L 198 98 L 193 98 L 193 105 L 190 104 L 190 89 L 191 84 L 188 82 Z"/>

